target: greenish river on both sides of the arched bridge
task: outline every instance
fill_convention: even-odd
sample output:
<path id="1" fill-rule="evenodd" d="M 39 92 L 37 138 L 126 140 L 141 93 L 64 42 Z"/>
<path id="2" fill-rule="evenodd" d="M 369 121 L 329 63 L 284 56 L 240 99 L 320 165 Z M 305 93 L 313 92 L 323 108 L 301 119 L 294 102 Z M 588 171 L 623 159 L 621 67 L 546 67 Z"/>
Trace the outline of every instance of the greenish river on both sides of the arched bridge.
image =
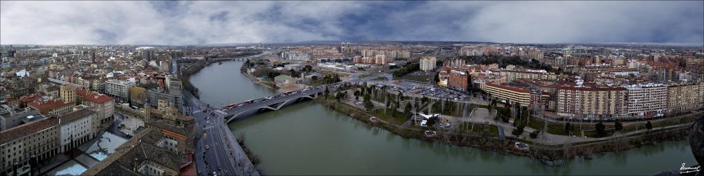
<path id="1" fill-rule="evenodd" d="M 242 61 L 203 68 L 191 77 L 213 106 L 275 94 L 239 72 Z M 596 153 L 559 167 L 524 156 L 404 139 L 313 101 L 231 122 L 260 158 L 265 175 L 650 175 L 696 164 L 689 142 Z"/>

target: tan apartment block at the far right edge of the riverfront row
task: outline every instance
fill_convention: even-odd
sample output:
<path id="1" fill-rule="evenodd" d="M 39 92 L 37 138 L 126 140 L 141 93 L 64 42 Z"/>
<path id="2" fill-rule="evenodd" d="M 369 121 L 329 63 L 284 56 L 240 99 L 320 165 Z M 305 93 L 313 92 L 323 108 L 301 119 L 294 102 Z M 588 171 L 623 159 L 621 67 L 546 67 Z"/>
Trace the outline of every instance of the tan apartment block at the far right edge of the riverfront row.
<path id="1" fill-rule="evenodd" d="M 667 87 L 667 110 L 689 111 L 704 106 L 704 82 Z"/>

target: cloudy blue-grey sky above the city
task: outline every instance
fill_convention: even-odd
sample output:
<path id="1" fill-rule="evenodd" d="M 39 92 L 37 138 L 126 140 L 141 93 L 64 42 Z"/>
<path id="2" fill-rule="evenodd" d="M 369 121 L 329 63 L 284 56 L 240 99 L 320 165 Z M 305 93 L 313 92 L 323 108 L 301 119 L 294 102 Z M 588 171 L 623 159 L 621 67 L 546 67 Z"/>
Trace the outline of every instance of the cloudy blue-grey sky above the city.
<path id="1" fill-rule="evenodd" d="M 704 43 L 704 1 L 0 1 L 0 44 Z"/>

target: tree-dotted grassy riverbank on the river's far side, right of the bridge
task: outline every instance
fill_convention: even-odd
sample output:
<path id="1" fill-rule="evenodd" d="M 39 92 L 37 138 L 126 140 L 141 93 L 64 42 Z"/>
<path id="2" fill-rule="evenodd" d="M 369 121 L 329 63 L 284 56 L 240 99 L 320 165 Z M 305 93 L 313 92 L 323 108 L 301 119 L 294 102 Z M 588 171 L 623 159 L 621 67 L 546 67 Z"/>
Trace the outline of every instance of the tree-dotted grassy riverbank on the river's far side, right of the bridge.
<path id="1" fill-rule="evenodd" d="M 536 144 L 524 139 L 516 139 L 515 137 L 499 139 L 498 137 L 490 137 L 489 135 L 481 134 L 438 132 L 438 134 L 434 137 L 426 137 L 423 134 L 425 130 L 401 127 L 384 120 L 377 120 L 376 122 L 373 122 L 370 118 L 374 115 L 367 113 L 361 108 L 356 108 L 346 103 L 339 103 L 332 98 L 318 98 L 315 99 L 315 101 L 334 111 L 344 113 L 356 120 L 382 128 L 401 137 L 420 139 L 427 142 L 453 144 L 457 146 L 471 146 L 489 151 L 512 153 L 517 156 L 528 156 L 539 159 L 546 165 L 551 166 L 561 165 L 567 160 L 579 157 L 589 160 L 595 153 L 625 151 L 648 144 L 658 144 L 659 142 L 681 141 L 686 140 L 689 136 L 689 126 L 687 126 L 664 130 L 652 130 L 650 132 L 646 132 L 646 134 L 624 136 L 612 140 L 553 146 Z M 515 142 L 529 144 L 530 148 L 529 150 L 517 149 L 514 146 Z"/>

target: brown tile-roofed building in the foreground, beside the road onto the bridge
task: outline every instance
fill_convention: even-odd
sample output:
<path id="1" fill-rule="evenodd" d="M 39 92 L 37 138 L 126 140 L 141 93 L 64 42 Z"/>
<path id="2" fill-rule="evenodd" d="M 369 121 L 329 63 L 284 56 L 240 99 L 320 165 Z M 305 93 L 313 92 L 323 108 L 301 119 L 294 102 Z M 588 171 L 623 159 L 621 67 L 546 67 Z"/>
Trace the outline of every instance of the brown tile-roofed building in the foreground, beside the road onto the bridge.
<path id="1" fill-rule="evenodd" d="M 196 175 L 194 117 L 161 117 L 82 175 Z"/>

